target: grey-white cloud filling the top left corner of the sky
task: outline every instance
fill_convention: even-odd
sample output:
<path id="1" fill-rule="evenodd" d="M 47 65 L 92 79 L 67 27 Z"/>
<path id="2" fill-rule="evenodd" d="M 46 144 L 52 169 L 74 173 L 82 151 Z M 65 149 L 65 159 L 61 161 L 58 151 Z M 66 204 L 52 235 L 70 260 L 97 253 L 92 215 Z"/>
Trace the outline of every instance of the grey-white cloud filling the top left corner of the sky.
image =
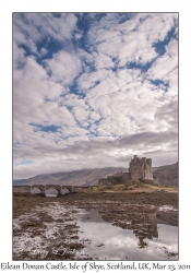
<path id="1" fill-rule="evenodd" d="M 73 13 L 60 13 L 60 17 L 53 13 L 14 13 L 13 22 L 16 44 L 26 45 L 35 54 L 35 43 L 46 36 L 58 41 L 71 39 L 76 28 L 76 16 Z"/>

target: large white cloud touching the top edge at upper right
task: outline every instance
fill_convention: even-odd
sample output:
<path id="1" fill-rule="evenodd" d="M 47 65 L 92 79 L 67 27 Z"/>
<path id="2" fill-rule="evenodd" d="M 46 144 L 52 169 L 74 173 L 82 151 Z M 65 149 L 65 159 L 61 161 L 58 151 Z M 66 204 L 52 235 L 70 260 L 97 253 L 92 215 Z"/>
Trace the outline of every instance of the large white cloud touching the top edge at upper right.
<path id="1" fill-rule="evenodd" d="M 140 22 L 141 20 L 141 22 Z M 91 29 L 89 43 L 98 52 L 119 60 L 123 67 L 129 62 L 145 64 L 157 57 L 152 45 L 164 40 L 175 25 L 177 14 L 148 13 L 138 14 L 122 24 L 114 24 L 106 17 L 99 25 Z"/>

